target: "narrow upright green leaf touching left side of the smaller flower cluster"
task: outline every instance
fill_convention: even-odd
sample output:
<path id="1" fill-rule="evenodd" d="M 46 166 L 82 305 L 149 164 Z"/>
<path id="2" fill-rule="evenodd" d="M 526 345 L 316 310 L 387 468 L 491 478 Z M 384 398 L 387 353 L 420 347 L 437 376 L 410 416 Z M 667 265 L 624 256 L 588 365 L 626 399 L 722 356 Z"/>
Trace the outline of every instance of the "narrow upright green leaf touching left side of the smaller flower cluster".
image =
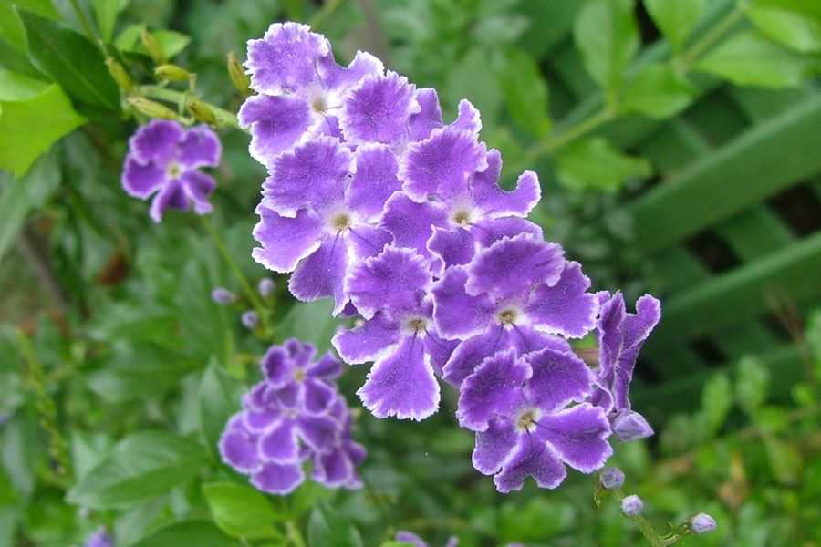
<path id="1" fill-rule="evenodd" d="M 240 389 L 240 383 L 228 377 L 212 359 L 203 374 L 199 394 L 200 430 L 211 453 L 215 453 L 228 418 L 239 407 Z"/>

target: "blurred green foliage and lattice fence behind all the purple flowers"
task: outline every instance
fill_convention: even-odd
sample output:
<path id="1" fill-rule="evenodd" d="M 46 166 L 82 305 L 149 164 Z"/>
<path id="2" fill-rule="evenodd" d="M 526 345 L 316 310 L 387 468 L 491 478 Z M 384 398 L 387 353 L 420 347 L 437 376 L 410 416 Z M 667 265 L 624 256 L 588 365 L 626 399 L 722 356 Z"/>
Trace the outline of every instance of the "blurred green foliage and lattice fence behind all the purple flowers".
<path id="1" fill-rule="evenodd" d="M 78 545 L 100 524 L 120 546 L 273 546 L 285 521 L 312 547 L 400 529 L 468 547 L 642 541 L 615 501 L 594 508 L 591 477 L 495 493 L 452 393 L 421 424 L 359 413 L 365 490 L 266 500 L 218 463 L 265 346 L 242 304 L 210 300 L 241 287 L 203 225 L 155 225 L 120 190 L 135 119 L 85 36 L 150 83 L 149 29 L 235 110 L 225 54 L 286 19 L 340 61 L 367 49 L 439 89 L 446 116 L 469 98 L 505 181 L 539 172 L 548 237 L 599 288 L 660 296 L 634 401 L 658 435 L 617 447 L 658 530 L 707 511 L 718 531 L 682 543 L 821 544 L 821 3 L 2 0 L 0 546 Z M 256 280 L 265 173 L 244 134 L 221 136 L 213 223 Z M 294 305 L 276 282 L 276 339 L 327 348 L 329 306 Z M 351 403 L 363 375 L 343 378 Z"/>

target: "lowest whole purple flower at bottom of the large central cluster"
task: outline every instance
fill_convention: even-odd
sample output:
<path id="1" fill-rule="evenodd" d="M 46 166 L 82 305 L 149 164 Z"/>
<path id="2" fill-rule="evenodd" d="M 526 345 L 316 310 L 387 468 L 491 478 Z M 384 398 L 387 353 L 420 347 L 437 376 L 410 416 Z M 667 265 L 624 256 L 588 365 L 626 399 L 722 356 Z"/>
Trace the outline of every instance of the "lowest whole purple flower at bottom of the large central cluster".
<path id="1" fill-rule="evenodd" d="M 601 408 L 584 403 L 593 376 L 572 353 L 514 349 L 486 358 L 462 382 L 456 416 L 476 431 L 473 467 L 494 475 L 501 492 L 519 490 L 533 477 L 556 488 L 565 465 L 590 473 L 612 454 Z M 575 406 L 569 406 L 578 403 Z"/>

